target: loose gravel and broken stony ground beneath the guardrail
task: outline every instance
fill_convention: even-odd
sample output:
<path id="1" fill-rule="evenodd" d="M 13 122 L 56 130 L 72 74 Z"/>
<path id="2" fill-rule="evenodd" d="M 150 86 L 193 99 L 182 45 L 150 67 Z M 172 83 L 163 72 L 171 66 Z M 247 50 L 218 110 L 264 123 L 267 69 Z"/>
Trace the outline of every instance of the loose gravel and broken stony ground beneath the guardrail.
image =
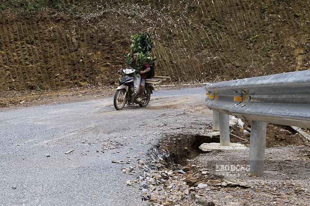
<path id="1" fill-rule="evenodd" d="M 143 192 L 153 205 L 309 205 L 308 154 L 309 147 L 268 148 L 264 176 L 249 177 L 247 170 L 218 171 L 221 165 L 248 165 L 249 150 L 215 149 L 188 159 L 185 174 L 171 170 L 180 165 L 153 160 L 158 171 L 144 172 L 140 181 L 147 181 Z"/>

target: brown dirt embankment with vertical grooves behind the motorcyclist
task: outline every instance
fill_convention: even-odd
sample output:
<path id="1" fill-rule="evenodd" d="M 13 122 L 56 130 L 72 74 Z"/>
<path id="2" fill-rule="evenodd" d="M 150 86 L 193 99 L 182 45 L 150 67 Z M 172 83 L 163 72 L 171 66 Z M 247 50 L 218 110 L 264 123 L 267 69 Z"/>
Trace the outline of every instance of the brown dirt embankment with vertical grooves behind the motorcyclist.
<path id="1" fill-rule="evenodd" d="M 8 2 L 0 90 L 114 84 L 130 35 L 141 31 L 154 32 L 157 74 L 175 81 L 309 68 L 308 1 Z"/>

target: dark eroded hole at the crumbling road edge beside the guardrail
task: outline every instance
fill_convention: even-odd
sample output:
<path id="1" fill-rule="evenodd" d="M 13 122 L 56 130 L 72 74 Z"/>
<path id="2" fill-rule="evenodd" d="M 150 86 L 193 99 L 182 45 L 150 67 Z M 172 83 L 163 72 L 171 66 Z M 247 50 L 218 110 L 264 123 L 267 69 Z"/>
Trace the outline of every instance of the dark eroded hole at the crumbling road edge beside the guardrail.
<path id="1" fill-rule="evenodd" d="M 179 169 L 188 164 L 188 159 L 206 153 L 199 149 L 203 143 L 219 143 L 219 135 L 186 135 L 176 134 L 164 136 L 160 143 L 154 148 L 154 158 L 159 157 L 169 169 Z"/>

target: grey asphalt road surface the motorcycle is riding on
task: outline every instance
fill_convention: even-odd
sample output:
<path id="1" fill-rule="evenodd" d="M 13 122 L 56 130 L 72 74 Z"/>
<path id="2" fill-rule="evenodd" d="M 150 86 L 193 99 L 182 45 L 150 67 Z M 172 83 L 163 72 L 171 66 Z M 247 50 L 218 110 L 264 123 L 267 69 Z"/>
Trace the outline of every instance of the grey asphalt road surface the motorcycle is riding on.
<path id="1" fill-rule="evenodd" d="M 204 98 L 203 88 L 187 88 L 154 92 L 146 108 L 116 111 L 108 98 L 0 112 L 0 205 L 147 204 L 125 185 L 138 171 L 122 168 L 163 134 L 202 129 Z"/>

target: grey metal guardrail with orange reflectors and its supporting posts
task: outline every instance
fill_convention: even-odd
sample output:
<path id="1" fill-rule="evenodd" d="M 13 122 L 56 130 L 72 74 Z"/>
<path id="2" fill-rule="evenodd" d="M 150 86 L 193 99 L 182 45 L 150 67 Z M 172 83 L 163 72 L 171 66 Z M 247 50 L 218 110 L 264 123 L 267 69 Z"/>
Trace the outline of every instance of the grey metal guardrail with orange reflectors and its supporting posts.
<path id="1" fill-rule="evenodd" d="M 310 71 L 206 84 L 206 106 L 221 145 L 229 145 L 228 115 L 252 120 L 250 174 L 262 176 L 267 123 L 310 127 Z"/>

